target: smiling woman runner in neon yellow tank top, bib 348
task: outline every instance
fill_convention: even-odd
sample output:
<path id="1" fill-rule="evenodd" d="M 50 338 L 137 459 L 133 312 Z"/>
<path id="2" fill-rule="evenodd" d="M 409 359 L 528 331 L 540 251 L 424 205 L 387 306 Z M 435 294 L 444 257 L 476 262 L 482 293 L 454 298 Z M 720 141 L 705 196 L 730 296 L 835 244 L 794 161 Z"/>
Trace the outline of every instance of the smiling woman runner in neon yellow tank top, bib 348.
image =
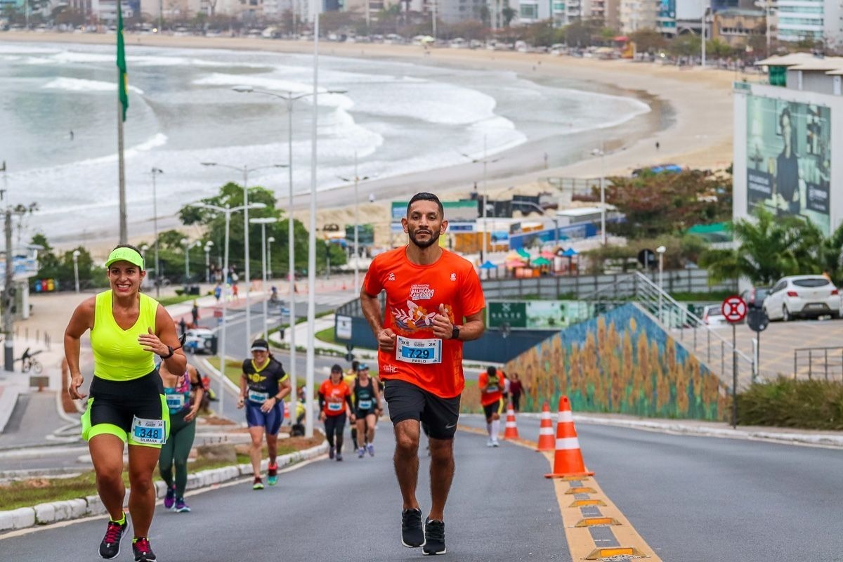
<path id="1" fill-rule="evenodd" d="M 153 298 L 140 292 L 146 276 L 143 257 L 134 246 L 121 244 L 105 262 L 110 290 L 80 304 L 64 333 L 64 353 L 70 367 L 68 392 L 83 399 L 79 370 L 82 335 L 91 330 L 94 378 L 82 435 L 88 440 L 99 499 L 110 514 L 99 555 L 120 554 L 127 521 L 123 513 L 123 450 L 129 449 L 129 515 L 134 526 L 132 550 L 136 562 L 155 560 L 148 533 L 155 510 L 153 470 L 161 443 L 169 431 L 169 411 L 161 377 L 153 358 L 160 356 L 169 372 L 187 366 L 173 318 Z"/>

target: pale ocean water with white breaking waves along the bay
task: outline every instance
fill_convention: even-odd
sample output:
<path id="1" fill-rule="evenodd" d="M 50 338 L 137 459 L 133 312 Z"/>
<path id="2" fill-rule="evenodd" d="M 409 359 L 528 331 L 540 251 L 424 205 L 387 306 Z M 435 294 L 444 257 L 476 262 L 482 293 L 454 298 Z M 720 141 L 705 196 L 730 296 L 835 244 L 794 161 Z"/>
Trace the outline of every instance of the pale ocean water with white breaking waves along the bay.
<path id="1" fill-rule="evenodd" d="M 158 215 L 240 181 L 232 166 L 287 163 L 287 106 L 232 89 L 312 90 L 312 56 L 127 46 L 130 107 L 125 123 L 126 194 L 131 221 Z M 35 201 L 31 231 L 51 239 L 117 232 L 116 67 L 106 45 L 0 42 L 0 160 L 6 200 Z M 321 56 L 317 185 L 322 201 L 338 176 L 379 179 L 435 170 L 527 142 L 617 126 L 647 113 L 634 97 L 588 91 L 564 80 L 541 83 L 514 72 Z M 293 190 L 310 189 L 312 99 L 293 110 Z M 73 132 L 71 139 L 70 131 Z M 558 146 L 558 142 L 557 142 Z M 287 170 L 260 170 L 250 185 L 286 201 Z M 130 232 L 131 235 L 131 232 Z"/>

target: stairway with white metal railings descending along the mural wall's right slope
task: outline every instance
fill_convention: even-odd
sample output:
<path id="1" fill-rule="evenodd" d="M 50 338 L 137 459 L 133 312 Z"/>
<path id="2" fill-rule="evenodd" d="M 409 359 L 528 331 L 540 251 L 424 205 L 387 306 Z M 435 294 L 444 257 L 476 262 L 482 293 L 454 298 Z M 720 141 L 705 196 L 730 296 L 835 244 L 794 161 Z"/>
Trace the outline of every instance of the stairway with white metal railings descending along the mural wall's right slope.
<path id="1" fill-rule="evenodd" d="M 584 299 L 617 303 L 619 297 L 638 302 L 663 325 L 668 334 L 678 339 L 685 350 L 716 373 L 728 387 L 732 385 L 733 368 L 737 371 L 738 388 L 757 380 L 758 369 L 753 358 L 735 348 L 731 341 L 711 329 L 702 318 L 676 302 L 668 292 L 664 292 L 638 271 L 619 279 L 613 286 L 602 287 Z"/>

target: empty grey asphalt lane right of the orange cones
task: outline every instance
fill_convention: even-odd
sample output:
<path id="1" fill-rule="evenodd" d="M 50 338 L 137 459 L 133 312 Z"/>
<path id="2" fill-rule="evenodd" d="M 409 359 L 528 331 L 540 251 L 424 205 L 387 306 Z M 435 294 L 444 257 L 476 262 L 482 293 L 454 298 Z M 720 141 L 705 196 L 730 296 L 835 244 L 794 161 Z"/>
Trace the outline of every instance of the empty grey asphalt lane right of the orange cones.
<path id="1" fill-rule="evenodd" d="M 539 420 L 519 417 L 518 431 L 535 441 Z M 594 479 L 663 560 L 843 559 L 840 449 L 585 423 L 577 434 Z"/>

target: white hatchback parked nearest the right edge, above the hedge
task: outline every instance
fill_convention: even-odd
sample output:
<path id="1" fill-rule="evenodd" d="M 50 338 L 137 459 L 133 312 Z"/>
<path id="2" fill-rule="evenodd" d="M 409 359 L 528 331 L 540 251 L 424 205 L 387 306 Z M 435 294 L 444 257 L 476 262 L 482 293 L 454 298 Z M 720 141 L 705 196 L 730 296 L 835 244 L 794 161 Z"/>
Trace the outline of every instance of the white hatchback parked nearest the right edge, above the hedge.
<path id="1" fill-rule="evenodd" d="M 840 292 L 824 276 L 782 277 L 764 299 L 767 318 L 840 318 Z"/>

